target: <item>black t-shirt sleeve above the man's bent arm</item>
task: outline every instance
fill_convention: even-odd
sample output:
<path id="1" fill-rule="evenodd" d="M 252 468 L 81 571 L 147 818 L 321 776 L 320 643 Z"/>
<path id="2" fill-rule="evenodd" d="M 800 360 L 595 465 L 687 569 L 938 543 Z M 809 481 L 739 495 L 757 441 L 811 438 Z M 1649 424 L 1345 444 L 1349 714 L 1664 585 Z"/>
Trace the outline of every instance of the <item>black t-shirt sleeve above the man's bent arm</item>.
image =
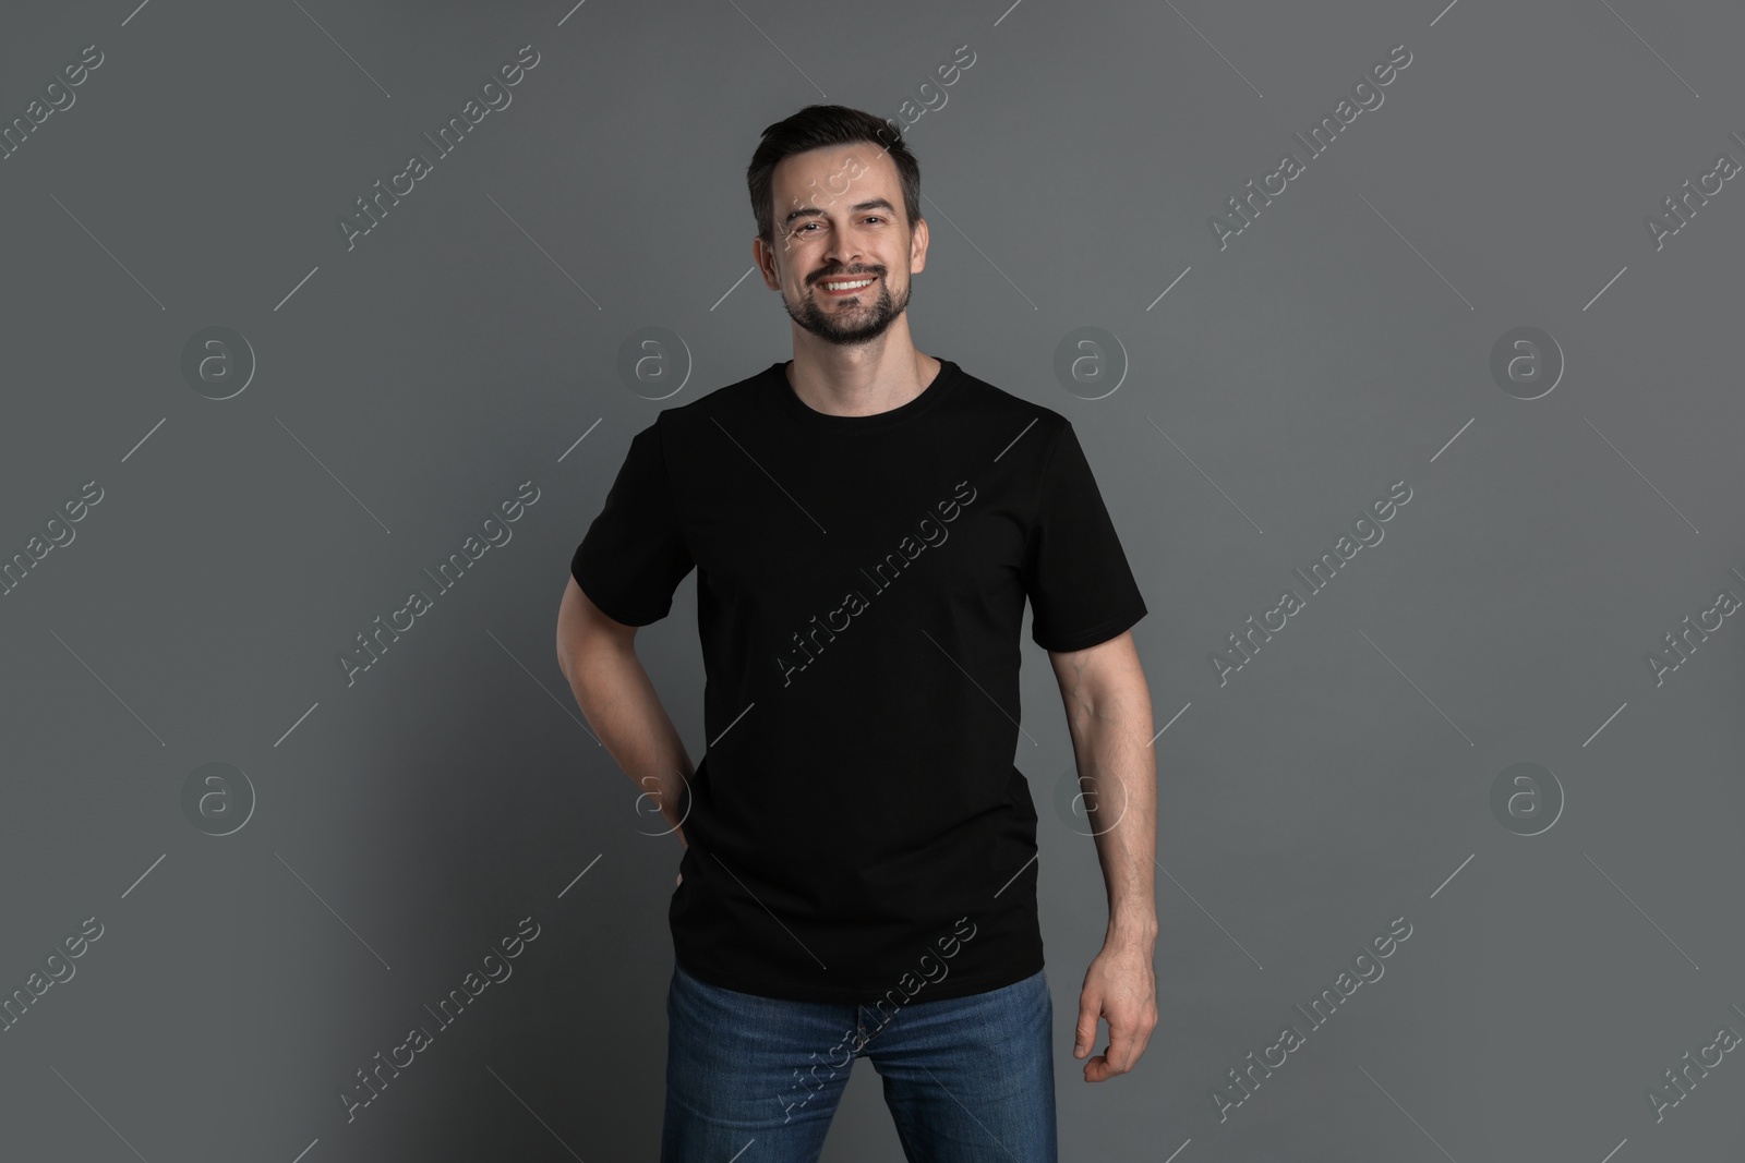
<path id="1" fill-rule="evenodd" d="M 569 572 L 614 622 L 647 626 L 672 610 L 672 595 L 693 565 L 656 420 L 630 439 L 618 479 L 576 546 Z"/>

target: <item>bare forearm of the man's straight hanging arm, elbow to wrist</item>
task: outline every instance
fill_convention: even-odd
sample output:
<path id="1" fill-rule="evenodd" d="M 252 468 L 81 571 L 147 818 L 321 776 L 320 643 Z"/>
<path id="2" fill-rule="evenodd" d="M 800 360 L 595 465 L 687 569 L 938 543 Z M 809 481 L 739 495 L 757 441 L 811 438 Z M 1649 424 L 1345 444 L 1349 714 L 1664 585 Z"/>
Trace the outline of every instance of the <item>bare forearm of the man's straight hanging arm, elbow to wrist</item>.
<path id="1" fill-rule="evenodd" d="M 1157 940 L 1157 752 L 1139 692 L 1105 699 L 1071 727 L 1087 820 L 1108 889 L 1108 938 Z"/>

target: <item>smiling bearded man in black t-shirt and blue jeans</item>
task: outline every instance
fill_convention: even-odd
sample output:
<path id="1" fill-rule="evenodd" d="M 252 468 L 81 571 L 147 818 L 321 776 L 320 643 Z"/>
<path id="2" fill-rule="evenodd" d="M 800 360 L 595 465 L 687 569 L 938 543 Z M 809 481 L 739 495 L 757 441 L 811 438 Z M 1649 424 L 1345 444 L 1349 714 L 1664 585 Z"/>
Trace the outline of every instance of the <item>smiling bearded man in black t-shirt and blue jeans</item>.
<path id="1" fill-rule="evenodd" d="M 1146 607 L 1071 424 L 914 349 L 928 232 L 900 136 L 808 106 L 747 180 L 794 359 L 630 441 L 558 612 L 578 704 L 686 844 L 661 1160 L 817 1160 L 869 1057 L 911 1161 L 1052 1163 L 1037 811 L 1012 765 L 1024 600 L 1108 886 L 1087 1081 L 1157 1024 Z M 695 769 L 633 649 L 691 568 Z"/>

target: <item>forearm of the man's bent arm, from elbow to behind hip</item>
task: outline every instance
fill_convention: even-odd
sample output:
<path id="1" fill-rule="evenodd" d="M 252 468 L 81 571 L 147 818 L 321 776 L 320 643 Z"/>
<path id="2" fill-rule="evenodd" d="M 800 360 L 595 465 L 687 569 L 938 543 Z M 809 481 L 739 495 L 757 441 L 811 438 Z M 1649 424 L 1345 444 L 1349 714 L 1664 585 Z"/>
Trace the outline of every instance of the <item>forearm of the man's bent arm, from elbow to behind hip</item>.
<path id="1" fill-rule="evenodd" d="M 630 647 L 590 645 L 562 661 L 576 706 L 630 781 L 660 806 L 689 847 L 681 825 L 686 781 L 695 774 L 667 708 Z"/>

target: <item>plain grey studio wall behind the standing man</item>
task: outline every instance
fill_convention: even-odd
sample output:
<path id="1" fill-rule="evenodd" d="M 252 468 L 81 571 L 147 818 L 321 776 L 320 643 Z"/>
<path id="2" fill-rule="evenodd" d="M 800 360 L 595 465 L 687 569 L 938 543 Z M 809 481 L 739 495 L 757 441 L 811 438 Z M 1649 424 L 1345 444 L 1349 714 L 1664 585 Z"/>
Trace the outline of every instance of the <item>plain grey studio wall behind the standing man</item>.
<path id="1" fill-rule="evenodd" d="M 0 989 L 105 935 L 0 1034 L 0 1153 L 656 1156 L 681 849 L 558 673 L 569 553 L 658 408 L 790 354 L 736 282 L 757 131 L 897 117 L 967 44 L 907 134 L 911 326 L 1073 420 L 1171 724 L 1162 1018 L 1089 1086 L 1103 884 L 1044 806 L 1071 746 L 1026 633 L 1063 1160 L 1736 1158 L 1736 1053 L 1659 1123 L 1644 1092 L 1745 1032 L 1745 629 L 1659 687 L 1644 654 L 1745 595 L 1745 194 L 1659 251 L 1642 220 L 1745 160 L 1742 31 L 1644 0 L 9 5 L 5 120 L 106 59 L 0 162 L 0 549 L 105 499 L 0 598 Z M 335 218 L 525 44 L 513 105 L 347 251 Z M 1386 103 L 1220 251 L 1208 214 L 1396 44 Z M 1487 370 L 1522 324 L 1567 357 L 1536 401 Z M 258 359 L 227 401 L 180 373 L 208 326 Z M 672 401 L 614 371 L 644 326 L 695 359 Z M 1099 401 L 1050 370 L 1080 326 L 1126 352 Z M 525 479 L 513 541 L 347 687 L 335 654 Z M 1220 687 L 1225 635 L 1398 479 L 1386 541 Z M 700 757 L 695 579 L 640 643 Z M 181 813 L 208 762 L 258 795 L 227 837 Z M 1516 762 L 1567 795 L 1543 835 L 1490 814 Z M 347 1125 L 352 1072 L 525 915 L 515 975 Z M 1398 915 L 1386 976 L 1220 1123 Z M 867 1064 L 825 1158 L 899 1158 Z"/>

